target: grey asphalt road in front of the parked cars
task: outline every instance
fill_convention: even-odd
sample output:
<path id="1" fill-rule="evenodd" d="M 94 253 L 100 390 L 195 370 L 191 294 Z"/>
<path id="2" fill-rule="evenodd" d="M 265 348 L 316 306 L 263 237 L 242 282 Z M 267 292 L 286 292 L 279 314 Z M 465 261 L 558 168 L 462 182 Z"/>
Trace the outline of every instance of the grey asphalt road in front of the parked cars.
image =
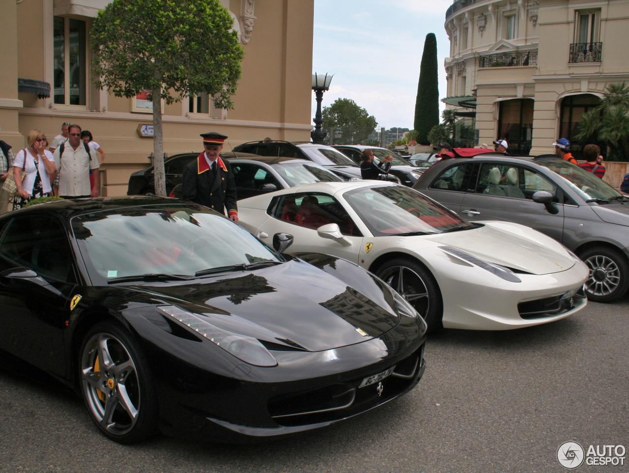
<path id="1" fill-rule="evenodd" d="M 0 369 L 0 470 L 565 471 L 556 455 L 568 440 L 629 450 L 628 329 L 629 298 L 535 328 L 445 330 L 429 340 L 425 376 L 407 396 L 263 445 L 118 445 L 97 432 L 81 399 Z M 595 471 L 629 466 L 577 470 Z"/>

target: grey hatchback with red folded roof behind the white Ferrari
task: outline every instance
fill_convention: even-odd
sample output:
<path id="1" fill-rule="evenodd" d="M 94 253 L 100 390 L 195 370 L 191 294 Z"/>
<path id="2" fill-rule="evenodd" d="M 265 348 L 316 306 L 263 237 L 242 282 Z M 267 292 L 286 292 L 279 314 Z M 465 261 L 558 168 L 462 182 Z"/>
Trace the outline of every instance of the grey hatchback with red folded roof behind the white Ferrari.
<path id="1" fill-rule="evenodd" d="M 433 164 L 413 189 L 467 220 L 535 228 L 589 267 L 587 297 L 611 302 L 629 288 L 629 198 L 567 161 L 483 156 Z"/>

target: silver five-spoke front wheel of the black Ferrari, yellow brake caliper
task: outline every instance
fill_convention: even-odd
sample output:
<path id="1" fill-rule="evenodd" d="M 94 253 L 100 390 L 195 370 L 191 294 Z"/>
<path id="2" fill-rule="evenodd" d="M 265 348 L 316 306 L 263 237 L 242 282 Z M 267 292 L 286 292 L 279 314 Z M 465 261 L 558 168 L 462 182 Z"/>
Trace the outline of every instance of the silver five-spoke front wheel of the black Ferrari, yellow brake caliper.
<path id="1" fill-rule="evenodd" d="M 89 330 L 79 351 L 79 382 L 87 411 L 106 437 L 133 443 L 157 431 L 153 377 L 135 338 L 120 326 L 102 322 Z"/>

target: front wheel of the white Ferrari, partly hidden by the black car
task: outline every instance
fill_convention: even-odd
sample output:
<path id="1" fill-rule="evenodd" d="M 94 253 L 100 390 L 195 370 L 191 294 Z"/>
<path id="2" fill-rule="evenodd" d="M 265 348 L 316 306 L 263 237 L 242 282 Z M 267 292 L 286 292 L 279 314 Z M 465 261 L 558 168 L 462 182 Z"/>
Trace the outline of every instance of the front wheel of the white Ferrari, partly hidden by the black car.
<path id="1" fill-rule="evenodd" d="M 443 327 L 443 302 L 437 281 L 415 261 L 401 258 L 386 262 L 377 276 L 409 301 L 428 325 L 428 333 Z"/>

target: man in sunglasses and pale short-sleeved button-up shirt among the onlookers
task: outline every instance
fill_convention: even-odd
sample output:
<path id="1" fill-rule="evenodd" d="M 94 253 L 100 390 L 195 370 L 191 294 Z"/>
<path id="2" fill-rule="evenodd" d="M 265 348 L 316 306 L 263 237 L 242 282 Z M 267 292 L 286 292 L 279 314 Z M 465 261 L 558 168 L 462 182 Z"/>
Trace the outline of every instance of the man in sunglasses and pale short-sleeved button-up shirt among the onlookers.
<path id="1" fill-rule="evenodd" d="M 62 198 L 98 197 L 101 182 L 97 169 L 101 166 L 89 147 L 81 140 L 81 126 L 68 126 L 68 140 L 64 143 L 63 154 L 60 148 L 54 153 L 59 176 L 58 195 Z M 89 170 L 94 170 L 94 185 L 90 189 Z"/>

